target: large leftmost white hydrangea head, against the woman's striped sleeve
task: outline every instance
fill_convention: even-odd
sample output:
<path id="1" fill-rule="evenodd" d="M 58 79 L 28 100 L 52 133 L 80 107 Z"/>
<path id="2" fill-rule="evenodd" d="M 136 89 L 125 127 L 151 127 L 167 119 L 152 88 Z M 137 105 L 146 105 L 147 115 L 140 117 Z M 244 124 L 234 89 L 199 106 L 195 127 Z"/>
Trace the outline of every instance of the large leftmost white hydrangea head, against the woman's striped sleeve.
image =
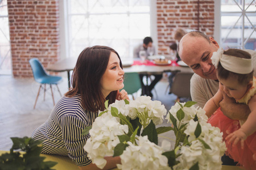
<path id="1" fill-rule="evenodd" d="M 89 131 L 90 138 L 84 146 L 88 157 L 98 168 L 104 168 L 104 156 L 113 156 L 113 149 L 120 143 L 118 135 L 128 133 L 128 126 L 119 124 L 117 118 L 109 113 L 104 113 L 93 122 Z"/>

